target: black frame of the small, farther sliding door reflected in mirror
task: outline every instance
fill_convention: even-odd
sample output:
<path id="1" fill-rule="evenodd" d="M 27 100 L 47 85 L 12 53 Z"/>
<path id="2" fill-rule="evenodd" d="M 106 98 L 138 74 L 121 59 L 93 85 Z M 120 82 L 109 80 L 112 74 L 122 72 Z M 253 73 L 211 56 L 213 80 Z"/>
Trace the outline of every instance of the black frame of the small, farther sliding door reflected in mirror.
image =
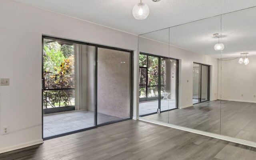
<path id="1" fill-rule="evenodd" d="M 199 80 L 199 82 L 198 83 L 200 83 L 199 84 L 199 86 L 198 86 L 198 90 L 199 90 L 199 92 L 198 92 L 198 101 L 199 102 L 197 102 L 197 103 L 193 103 L 193 104 L 198 104 L 198 103 L 202 103 L 202 102 L 207 102 L 207 101 L 210 101 L 210 71 L 211 71 L 211 68 L 210 68 L 210 65 L 207 65 L 207 64 L 202 64 L 202 63 L 197 63 L 197 62 L 193 62 L 193 64 L 198 64 L 199 65 L 199 70 L 200 70 L 200 80 Z M 208 67 L 208 75 L 207 75 L 207 78 L 208 78 L 208 80 L 207 80 L 207 100 L 204 100 L 204 101 L 202 101 L 202 66 L 207 66 Z M 200 96 L 199 96 L 200 95 Z M 192 99 L 193 99 L 193 96 L 192 96 Z"/>

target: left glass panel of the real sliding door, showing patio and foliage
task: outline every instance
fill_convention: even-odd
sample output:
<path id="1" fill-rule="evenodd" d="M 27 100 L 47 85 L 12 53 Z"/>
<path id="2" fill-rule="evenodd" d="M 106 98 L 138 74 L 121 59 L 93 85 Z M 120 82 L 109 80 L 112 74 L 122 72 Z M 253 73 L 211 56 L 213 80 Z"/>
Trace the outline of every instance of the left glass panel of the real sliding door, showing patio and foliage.
<path id="1" fill-rule="evenodd" d="M 95 47 L 44 38 L 43 138 L 95 126 Z"/>

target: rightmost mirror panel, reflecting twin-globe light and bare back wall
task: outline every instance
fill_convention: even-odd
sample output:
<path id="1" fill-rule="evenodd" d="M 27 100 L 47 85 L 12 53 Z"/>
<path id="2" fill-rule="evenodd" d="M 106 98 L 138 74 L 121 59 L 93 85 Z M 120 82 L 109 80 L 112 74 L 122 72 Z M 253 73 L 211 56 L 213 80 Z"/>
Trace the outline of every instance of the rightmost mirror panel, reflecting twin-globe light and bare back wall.
<path id="1" fill-rule="evenodd" d="M 220 134 L 256 142 L 256 8 L 222 15 Z M 220 97 L 221 96 L 221 97 Z"/>

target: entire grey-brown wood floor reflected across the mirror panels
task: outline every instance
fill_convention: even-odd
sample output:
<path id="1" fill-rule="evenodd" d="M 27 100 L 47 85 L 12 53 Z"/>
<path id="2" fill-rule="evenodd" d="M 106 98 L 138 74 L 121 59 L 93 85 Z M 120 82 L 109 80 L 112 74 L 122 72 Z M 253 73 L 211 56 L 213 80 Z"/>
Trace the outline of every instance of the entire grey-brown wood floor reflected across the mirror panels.
<path id="1" fill-rule="evenodd" d="M 215 100 L 143 118 L 256 142 L 256 103 Z"/>

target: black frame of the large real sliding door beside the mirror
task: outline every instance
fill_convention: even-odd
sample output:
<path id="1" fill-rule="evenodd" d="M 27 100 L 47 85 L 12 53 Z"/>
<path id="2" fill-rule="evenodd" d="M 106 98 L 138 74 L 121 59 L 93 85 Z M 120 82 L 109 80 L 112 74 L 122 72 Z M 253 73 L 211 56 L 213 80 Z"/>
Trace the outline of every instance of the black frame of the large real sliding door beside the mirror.
<path id="1" fill-rule="evenodd" d="M 44 82 L 43 82 L 43 79 L 44 79 L 44 39 L 60 40 L 60 41 L 71 42 L 71 43 L 76 43 L 76 44 L 83 44 L 83 45 L 94 46 L 95 47 L 94 126 L 44 138 L 44 109 L 43 109 L 43 106 L 44 106 L 44 101 L 43 101 L 43 92 L 44 92 Z M 97 109 L 98 48 L 106 48 L 106 49 L 110 49 L 110 50 L 119 50 L 119 51 L 130 53 L 130 117 L 121 118 L 119 120 L 114 120 L 114 121 L 106 122 L 106 123 L 103 123 L 103 124 L 97 124 L 97 118 L 98 118 L 98 112 L 97 112 L 98 111 L 98 109 Z M 87 42 L 80 42 L 80 41 L 75 41 L 75 40 L 68 40 L 68 39 L 63 39 L 63 38 L 56 38 L 56 37 L 52 37 L 52 36 L 42 35 L 42 88 L 41 88 L 42 89 L 42 93 L 41 93 L 42 94 L 41 95 L 41 97 L 42 97 L 42 106 L 41 106 L 42 107 L 42 139 L 43 140 L 49 140 L 49 139 L 52 139 L 52 138 L 66 136 L 66 135 L 70 135 L 70 134 L 90 130 L 90 129 L 93 129 L 93 128 L 98 128 L 100 126 L 106 126 L 108 124 L 113 124 L 113 123 L 122 122 L 122 121 L 125 121 L 125 120 L 132 119 L 132 113 L 133 113 L 133 54 L 134 53 L 133 53 L 132 50 L 125 50 L 125 49 L 121 49 L 121 48 L 115 48 L 115 47 L 109 47 L 109 46 L 104 46 L 104 45 L 98 45 L 98 44 L 92 44 L 92 43 L 87 43 Z"/>

